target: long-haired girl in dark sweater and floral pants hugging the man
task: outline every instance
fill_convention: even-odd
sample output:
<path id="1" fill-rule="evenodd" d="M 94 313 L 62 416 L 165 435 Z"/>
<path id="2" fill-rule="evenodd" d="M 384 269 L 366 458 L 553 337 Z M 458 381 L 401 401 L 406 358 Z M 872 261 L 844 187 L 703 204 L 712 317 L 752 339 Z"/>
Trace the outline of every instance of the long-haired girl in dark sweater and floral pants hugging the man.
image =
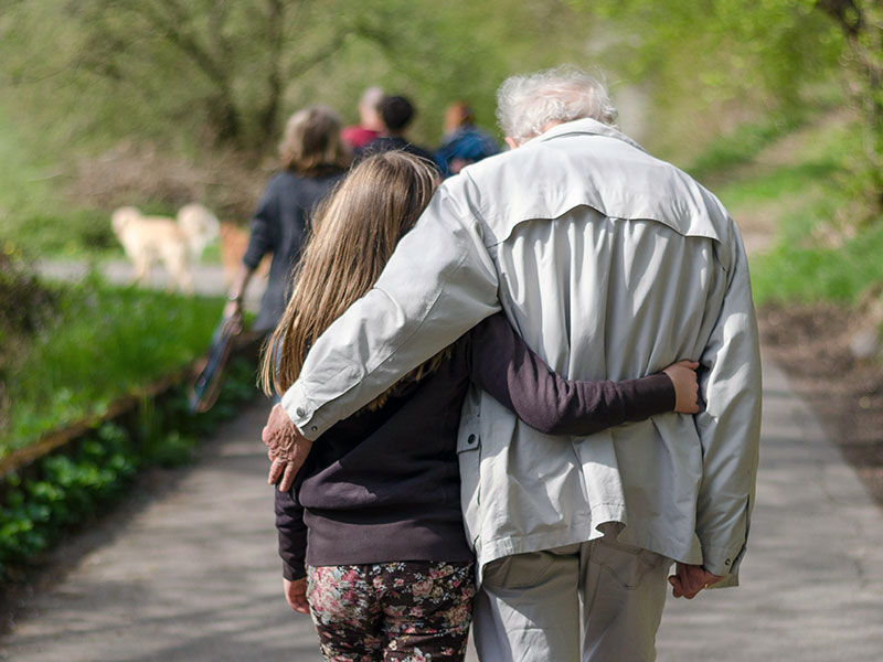
<path id="1" fill-rule="evenodd" d="M 265 389 L 288 388 L 312 342 L 373 286 L 436 178 L 421 159 L 380 153 L 320 206 L 267 345 Z M 485 320 L 325 433 L 294 487 L 277 490 L 288 604 L 311 612 L 328 660 L 462 660 L 475 579 L 456 441 L 470 382 L 538 429 L 586 435 L 695 413 L 695 366 L 618 383 L 566 381 L 502 313 Z"/>

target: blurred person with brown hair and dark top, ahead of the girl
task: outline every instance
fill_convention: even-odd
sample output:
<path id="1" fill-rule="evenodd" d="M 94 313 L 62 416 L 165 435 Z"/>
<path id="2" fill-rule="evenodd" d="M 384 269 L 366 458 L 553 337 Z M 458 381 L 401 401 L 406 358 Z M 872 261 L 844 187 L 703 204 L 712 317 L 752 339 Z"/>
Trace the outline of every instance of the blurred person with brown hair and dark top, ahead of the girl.
<path id="1" fill-rule="evenodd" d="M 224 316 L 242 316 L 242 298 L 260 259 L 268 253 L 273 261 L 267 287 L 254 330 L 276 327 L 287 301 L 291 269 L 310 225 L 316 204 L 350 166 L 340 141 L 341 121 L 325 106 L 310 106 L 295 113 L 279 142 L 281 170 L 269 181 L 252 217 L 248 247 L 227 293 Z"/>

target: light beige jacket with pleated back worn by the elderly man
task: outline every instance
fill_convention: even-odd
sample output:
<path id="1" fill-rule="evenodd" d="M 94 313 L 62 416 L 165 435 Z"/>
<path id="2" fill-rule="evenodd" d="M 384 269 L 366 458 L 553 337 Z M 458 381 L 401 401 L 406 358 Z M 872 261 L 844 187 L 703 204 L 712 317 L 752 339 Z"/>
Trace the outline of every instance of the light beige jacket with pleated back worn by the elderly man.
<path id="1" fill-rule="evenodd" d="M 283 406 L 319 437 L 500 308 L 571 378 L 698 360 L 706 408 L 549 437 L 474 388 L 458 452 L 479 566 L 610 525 L 736 584 L 760 420 L 742 239 L 714 195 L 594 120 L 447 180 L 376 287 L 313 345 Z"/>

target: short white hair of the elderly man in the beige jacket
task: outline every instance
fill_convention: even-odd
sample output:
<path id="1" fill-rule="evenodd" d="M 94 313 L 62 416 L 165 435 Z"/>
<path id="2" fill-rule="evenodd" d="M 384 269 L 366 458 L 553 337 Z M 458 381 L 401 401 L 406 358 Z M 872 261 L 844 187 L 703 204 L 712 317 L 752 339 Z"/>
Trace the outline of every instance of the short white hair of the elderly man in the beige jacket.
<path id="1" fill-rule="evenodd" d="M 591 117 L 616 126 L 616 115 L 604 82 L 572 65 L 510 76 L 497 90 L 497 120 L 519 143 L 552 122 Z"/>

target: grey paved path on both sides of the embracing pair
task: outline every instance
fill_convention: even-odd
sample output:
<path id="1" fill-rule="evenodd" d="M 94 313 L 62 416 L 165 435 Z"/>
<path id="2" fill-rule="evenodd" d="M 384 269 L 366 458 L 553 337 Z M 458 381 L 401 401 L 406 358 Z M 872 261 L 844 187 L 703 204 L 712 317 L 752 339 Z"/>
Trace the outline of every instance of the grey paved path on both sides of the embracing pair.
<path id="1" fill-rule="evenodd" d="M 743 586 L 671 599 L 659 660 L 881 661 L 883 513 L 768 362 L 764 399 Z M 0 639 L 0 660 L 318 660 L 309 621 L 281 598 L 266 413 L 248 408 L 172 489 L 106 524 L 108 540 Z"/>

